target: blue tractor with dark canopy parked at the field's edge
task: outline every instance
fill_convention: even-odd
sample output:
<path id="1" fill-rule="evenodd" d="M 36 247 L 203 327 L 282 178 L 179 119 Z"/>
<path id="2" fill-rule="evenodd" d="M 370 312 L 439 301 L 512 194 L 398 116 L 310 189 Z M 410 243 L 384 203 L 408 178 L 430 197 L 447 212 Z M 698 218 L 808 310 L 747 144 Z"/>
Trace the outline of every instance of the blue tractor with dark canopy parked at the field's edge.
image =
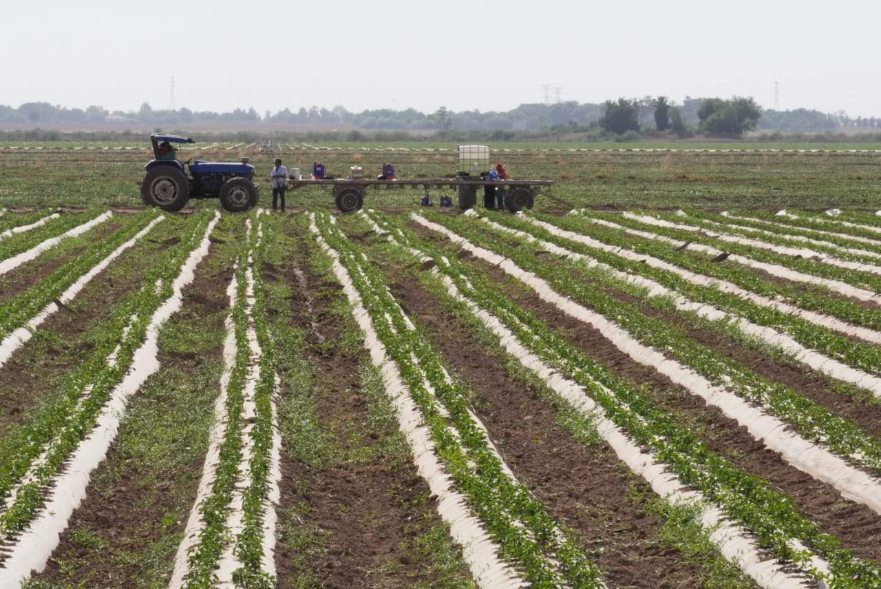
<path id="1" fill-rule="evenodd" d="M 181 162 L 173 144 L 196 143 L 192 139 L 154 134 L 150 142 L 153 160 L 144 166 L 141 182 L 144 205 L 180 211 L 190 198 L 220 198 L 227 211 L 241 212 L 257 204 L 254 166 L 248 165 L 248 158 L 241 163 Z"/>

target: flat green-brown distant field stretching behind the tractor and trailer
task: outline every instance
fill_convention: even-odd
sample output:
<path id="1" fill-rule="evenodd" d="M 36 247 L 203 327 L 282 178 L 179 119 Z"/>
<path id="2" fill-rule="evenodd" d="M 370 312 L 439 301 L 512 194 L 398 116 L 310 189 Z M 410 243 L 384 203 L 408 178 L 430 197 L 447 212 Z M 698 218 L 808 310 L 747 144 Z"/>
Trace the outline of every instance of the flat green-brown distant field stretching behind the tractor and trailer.
<path id="1" fill-rule="evenodd" d="M 494 144 L 492 149 L 493 159 L 505 161 L 515 178 L 559 180 L 551 190 L 552 198 L 537 201 L 540 210 L 576 206 L 881 208 L 881 151 L 873 153 L 881 150 L 878 144 L 512 143 Z M 263 202 L 269 190 L 264 178 L 277 156 L 289 168 L 300 167 L 304 173 L 313 161 L 322 160 L 329 174 L 337 176 L 346 175 L 355 164 L 373 175 L 385 161 L 394 163 L 402 178 L 450 175 L 455 170 L 455 144 L 285 143 L 262 151 L 257 144 L 206 141 L 181 152 L 184 159 L 234 161 L 242 156 L 257 168 Z M 137 181 L 150 157 L 146 142 L 0 143 L 0 206 L 140 206 Z M 368 193 L 367 203 L 410 206 L 419 196 L 409 190 L 373 192 Z M 441 192 L 432 196 L 437 199 Z M 298 207 L 332 206 L 327 190 L 297 190 L 290 200 Z M 214 206 L 211 201 L 206 204 Z"/>

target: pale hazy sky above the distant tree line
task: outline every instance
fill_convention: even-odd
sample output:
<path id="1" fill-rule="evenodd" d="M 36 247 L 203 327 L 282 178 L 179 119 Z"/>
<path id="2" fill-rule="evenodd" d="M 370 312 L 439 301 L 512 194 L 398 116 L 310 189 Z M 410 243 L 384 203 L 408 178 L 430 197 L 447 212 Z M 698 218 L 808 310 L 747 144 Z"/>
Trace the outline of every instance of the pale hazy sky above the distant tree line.
<path id="1" fill-rule="evenodd" d="M 507 110 L 753 96 L 881 116 L 877 0 L 8 2 L 0 104 Z M 553 93 L 552 93 L 553 99 Z"/>

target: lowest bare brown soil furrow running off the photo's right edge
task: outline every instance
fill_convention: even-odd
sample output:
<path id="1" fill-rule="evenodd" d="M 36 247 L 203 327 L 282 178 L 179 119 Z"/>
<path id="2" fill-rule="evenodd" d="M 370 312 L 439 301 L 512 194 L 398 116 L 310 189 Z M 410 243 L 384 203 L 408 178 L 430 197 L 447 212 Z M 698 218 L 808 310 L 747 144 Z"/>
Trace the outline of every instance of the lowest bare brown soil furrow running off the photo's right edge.
<path id="1" fill-rule="evenodd" d="M 777 452 L 766 449 L 765 444 L 753 439 L 745 428 L 738 427 L 737 421 L 725 417 L 716 407 L 708 407 L 703 399 L 671 383 L 654 369 L 634 362 L 588 324 L 567 316 L 534 293 L 511 287 L 507 284 L 509 277 L 498 268 L 472 257 L 464 257 L 463 262 L 486 272 L 512 301 L 542 317 L 584 354 L 626 378 L 634 388 L 648 384 L 655 406 L 692 424 L 693 433 L 711 450 L 786 493 L 799 511 L 826 532 L 837 535 L 845 548 L 881 563 L 881 518 L 874 511 L 848 501 L 831 485 L 789 466 Z"/>

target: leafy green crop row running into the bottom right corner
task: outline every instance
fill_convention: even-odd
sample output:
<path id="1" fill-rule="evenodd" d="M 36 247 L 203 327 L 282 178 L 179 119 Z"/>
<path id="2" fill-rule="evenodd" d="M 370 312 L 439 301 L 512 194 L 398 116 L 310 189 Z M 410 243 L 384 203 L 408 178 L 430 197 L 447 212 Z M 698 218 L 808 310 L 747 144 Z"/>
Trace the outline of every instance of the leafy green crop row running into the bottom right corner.
<path id="1" fill-rule="evenodd" d="M 448 252 L 448 263 L 444 264 L 444 252 L 436 246 L 390 224 L 379 215 L 375 218 L 381 220 L 384 227 L 403 232 L 397 235 L 401 235 L 408 246 L 433 257 L 437 268 L 453 280 L 466 298 L 499 318 L 524 347 L 544 362 L 581 384 L 603 407 L 611 421 L 637 444 L 652 451 L 655 459 L 669 466 L 680 481 L 699 489 L 729 518 L 754 533 L 760 546 L 770 549 L 785 562 L 795 563 L 814 578 L 823 578 L 821 572 L 812 569 L 810 553 L 792 547 L 791 540 L 796 539 L 829 562 L 833 578 L 826 581 L 830 587 L 868 589 L 881 586 L 881 573 L 876 563 L 855 557 L 850 550 L 841 548 L 838 538 L 821 532 L 815 523 L 804 518 L 788 496 L 710 451 L 707 444 L 675 416 L 653 406 L 642 391 L 629 386 L 610 369 L 581 353 L 534 313 L 511 302 L 492 286 L 483 272 L 463 265 Z M 486 242 L 481 244 L 486 245 Z"/>

